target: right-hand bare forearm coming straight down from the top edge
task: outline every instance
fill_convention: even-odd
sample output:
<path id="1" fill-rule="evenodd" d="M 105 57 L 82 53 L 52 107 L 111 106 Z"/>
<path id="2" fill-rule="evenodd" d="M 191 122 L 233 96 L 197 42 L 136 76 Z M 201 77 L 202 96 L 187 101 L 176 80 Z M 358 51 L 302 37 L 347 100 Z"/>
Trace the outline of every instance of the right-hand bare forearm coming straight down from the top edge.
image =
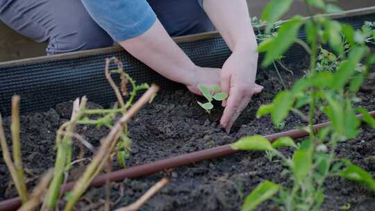
<path id="1" fill-rule="evenodd" d="M 256 53 L 256 37 L 245 0 L 204 0 L 203 8 L 232 51 Z"/>

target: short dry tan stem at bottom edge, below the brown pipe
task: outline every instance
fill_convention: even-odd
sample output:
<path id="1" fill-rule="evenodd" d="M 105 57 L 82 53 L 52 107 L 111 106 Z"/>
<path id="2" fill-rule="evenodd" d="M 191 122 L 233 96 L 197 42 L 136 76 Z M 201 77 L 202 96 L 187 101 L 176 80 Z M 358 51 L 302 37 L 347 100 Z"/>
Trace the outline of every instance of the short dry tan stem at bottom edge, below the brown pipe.
<path id="1" fill-rule="evenodd" d="M 143 196 L 141 196 L 140 199 L 135 201 L 135 203 L 132 203 L 131 205 L 128 205 L 124 208 L 119 208 L 115 211 L 135 211 L 135 210 L 139 210 L 142 207 L 142 205 L 144 205 L 144 203 L 149 201 L 149 199 L 153 195 L 155 195 L 157 192 L 159 192 L 160 189 L 162 189 L 165 185 L 167 185 L 168 182 L 169 182 L 168 178 L 161 179 L 158 183 L 153 185 Z"/>

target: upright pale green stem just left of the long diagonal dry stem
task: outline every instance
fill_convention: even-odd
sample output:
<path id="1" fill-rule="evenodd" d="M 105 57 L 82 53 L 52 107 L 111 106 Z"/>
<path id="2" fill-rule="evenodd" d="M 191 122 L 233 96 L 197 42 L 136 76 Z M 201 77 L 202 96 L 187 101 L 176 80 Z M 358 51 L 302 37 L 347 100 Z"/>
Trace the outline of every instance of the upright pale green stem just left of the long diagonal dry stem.
<path id="1" fill-rule="evenodd" d="M 53 178 L 44 201 L 47 209 L 49 210 L 55 208 L 56 201 L 60 196 L 60 187 L 63 183 L 64 171 L 69 169 L 72 164 L 72 134 L 76 126 L 76 121 L 78 121 L 78 119 L 80 119 L 84 114 L 86 102 L 87 99 L 85 97 L 81 99 L 81 103 L 79 99 L 74 101 L 71 120 L 63 124 L 63 126 L 59 128 L 56 135 L 58 152 L 56 155 L 55 170 L 53 172 Z M 65 135 L 63 136 L 63 139 L 61 139 L 61 135 L 63 135 L 63 133 L 65 133 Z"/>

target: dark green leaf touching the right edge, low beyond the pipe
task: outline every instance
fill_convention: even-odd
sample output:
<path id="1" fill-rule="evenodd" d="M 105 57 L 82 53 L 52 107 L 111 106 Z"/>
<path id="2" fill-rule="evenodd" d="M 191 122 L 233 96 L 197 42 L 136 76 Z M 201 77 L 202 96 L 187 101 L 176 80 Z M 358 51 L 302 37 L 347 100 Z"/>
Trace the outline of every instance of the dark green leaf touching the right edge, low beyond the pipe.
<path id="1" fill-rule="evenodd" d="M 339 171 L 338 175 L 365 185 L 367 188 L 375 192 L 375 180 L 372 178 L 371 174 L 355 164 L 350 164 L 342 171 Z"/>

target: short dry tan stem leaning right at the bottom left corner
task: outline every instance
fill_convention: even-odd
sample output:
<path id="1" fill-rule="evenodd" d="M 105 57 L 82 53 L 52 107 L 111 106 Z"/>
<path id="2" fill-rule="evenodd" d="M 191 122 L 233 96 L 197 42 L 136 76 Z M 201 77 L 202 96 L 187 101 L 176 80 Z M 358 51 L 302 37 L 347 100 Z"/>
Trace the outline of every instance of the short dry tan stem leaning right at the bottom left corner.
<path id="1" fill-rule="evenodd" d="M 22 207 L 19 208 L 18 211 L 35 210 L 35 208 L 38 207 L 38 205 L 42 201 L 41 198 L 44 192 L 46 191 L 49 185 L 49 182 L 51 181 L 52 176 L 53 176 L 53 170 L 50 169 L 49 171 L 47 171 L 47 174 L 44 174 L 44 176 L 40 180 L 40 183 L 33 189 L 30 200 L 24 205 L 22 205 Z"/>

